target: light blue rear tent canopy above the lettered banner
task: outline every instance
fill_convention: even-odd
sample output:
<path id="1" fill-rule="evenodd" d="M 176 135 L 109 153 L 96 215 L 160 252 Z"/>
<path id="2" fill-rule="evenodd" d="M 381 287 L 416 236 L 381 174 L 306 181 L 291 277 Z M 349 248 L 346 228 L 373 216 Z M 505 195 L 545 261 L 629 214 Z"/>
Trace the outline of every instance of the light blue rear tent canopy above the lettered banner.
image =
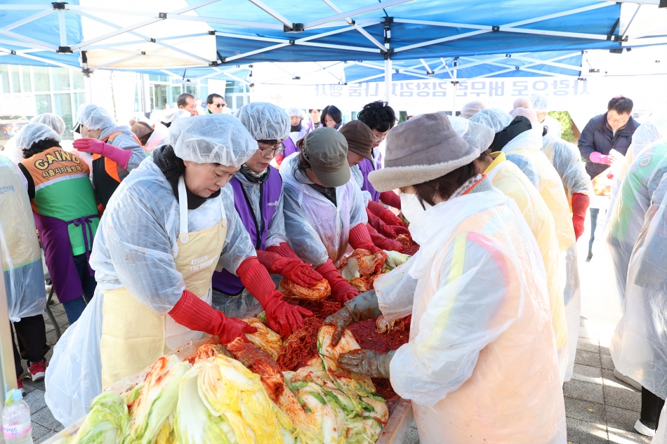
<path id="1" fill-rule="evenodd" d="M 546 51 L 478 55 L 474 57 L 395 60 L 392 80 L 444 79 L 462 81 L 485 77 L 581 76 L 581 51 Z M 345 81 L 384 81 L 385 66 L 380 62 L 348 62 Z"/>

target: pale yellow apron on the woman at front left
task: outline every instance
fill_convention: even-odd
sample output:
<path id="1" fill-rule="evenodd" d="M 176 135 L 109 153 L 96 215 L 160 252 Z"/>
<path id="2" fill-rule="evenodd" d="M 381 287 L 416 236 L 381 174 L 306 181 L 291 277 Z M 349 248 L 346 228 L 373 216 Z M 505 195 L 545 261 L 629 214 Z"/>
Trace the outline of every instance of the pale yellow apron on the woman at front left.
<path id="1" fill-rule="evenodd" d="M 189 233 L 183 177 L 178 180 L 178 203 L 180 234 L 174 263 L 183 275 L 185 289 L 210 305 L 211 277 L 227 235 L 225 208 L 215 227 Z M 144 370 L 160 356 L 202 335 L 176 323 L 169 315 L 155 314 L 126 288 L 105 291 L 100 343 L 102 388 Z"/>

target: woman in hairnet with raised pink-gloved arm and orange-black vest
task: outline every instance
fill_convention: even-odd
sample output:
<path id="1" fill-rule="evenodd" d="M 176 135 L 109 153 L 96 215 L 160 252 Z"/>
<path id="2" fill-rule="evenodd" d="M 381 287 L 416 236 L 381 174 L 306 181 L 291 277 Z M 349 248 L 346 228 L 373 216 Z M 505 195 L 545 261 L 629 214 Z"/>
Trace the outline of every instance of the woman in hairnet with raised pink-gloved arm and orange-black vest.
<path id="1" fill-rule="evenodd" d="M 72 131 L 81 133 L 74 148 L 93 154 L 93 186 L 104 210 L 121 180 L 146 159 L 141 144 L 127 125 L 118 125 L 103 107 L 84 103 Z"/>

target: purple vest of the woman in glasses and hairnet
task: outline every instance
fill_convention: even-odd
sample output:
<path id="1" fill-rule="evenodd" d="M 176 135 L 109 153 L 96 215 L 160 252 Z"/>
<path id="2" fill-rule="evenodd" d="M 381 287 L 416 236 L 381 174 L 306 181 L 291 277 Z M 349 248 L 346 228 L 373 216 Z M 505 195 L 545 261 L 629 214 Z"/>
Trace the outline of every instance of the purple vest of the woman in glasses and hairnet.
<path id="1" fill-rule="evenodd" d="M 248 231 L 248 234 L 250 234 L 256 250 L 266 249 L 266 236 L 269 224 L 276 213 L 280 194 L 282 193 L 282 178 L 280 177 L 280 173 L 272 166 L 269 167 L 269 170 L 269 177 L 263 184 L 260 184 L 260 199 L 262 200 L 260 205 L 262 214 L 260 217 L 264 222 L 264 229 L 261 232 L 257 223 L 259 217 L 255 217 L 256 215 L 253 212 L 253 208 L 250 205 L 249 198 L 241 182 L 236 177 L 230 180 L 230 184 L 234 190 L 234 207 L 236 208 L 236 212 L 239 213 L 239 217 L 241 217 L 243 226 Z M 227 295 L 238 295 L 243 291 L 243 284 L 239 276 L 223 270 L 219 273 L 217 271 L 213 273 L 213 288 L 227 293 Z"/>

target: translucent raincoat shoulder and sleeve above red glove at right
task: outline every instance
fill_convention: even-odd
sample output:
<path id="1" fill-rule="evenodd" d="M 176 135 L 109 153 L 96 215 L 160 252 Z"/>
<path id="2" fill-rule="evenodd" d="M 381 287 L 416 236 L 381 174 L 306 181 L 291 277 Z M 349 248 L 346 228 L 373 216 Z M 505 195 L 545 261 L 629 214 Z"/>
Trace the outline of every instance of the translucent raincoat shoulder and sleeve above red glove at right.
<path id="1" fill-rule="evenodd" d="M 556 169 L 565 187 L 567 200 L 572 203 L 575 193 L 593 196 L 593 183 L 586 173 L 586 163 L 581 161 L 579 148 L 550 133 L 542 137 L 542 152 Z"/>

